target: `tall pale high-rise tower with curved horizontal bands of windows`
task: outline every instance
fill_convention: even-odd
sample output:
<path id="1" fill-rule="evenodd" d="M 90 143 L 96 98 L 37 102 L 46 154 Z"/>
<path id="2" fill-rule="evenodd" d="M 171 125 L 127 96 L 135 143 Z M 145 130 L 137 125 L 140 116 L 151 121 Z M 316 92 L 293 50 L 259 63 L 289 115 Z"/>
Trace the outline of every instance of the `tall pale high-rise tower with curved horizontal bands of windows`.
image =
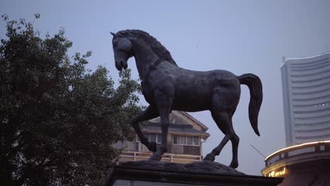
<path id="1" fill-rule="evenodd" d="M 330 140 L 330 52 L 281 66 L 286 146 Z"/>

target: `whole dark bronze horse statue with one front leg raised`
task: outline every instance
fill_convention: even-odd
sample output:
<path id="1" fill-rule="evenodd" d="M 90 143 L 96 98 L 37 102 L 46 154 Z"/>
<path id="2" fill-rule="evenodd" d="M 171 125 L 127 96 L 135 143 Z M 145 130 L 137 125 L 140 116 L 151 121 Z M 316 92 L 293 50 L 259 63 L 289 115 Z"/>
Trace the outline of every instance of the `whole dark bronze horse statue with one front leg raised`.
<path id="1" fill-rule="evenodd" d="M 207 72 L 186 70 L 176 65 L 167 49 L 154 37 L 141 30 L 122 30 L 114 36 L 114 59 L 118 70 L 128 67 L 128 58 L 134 56 L 142 80 L 142 94 L 149 106 L 133 119 L 133 128 L 142 144 L 154 153 L 149 160 L 159 161 L 166 152 L 169 114 L 178 111 L 205 111 L 212 113 L 216 125 L 224 132 L 224 139 L 203 161 L 214 161 L 228 140 L 233 147 L 231 167 L 238 167 L 239 138 L 233 130 L 232 117 L 240 99 L 240 85 L 250 89 L 249 118 L 255 133 L 258 131 L 258 114 L 262 104 L 262 83 L 253 74 L 236 76 L 226 70 Z M 139 123 L 160 116 L 161 146 L 149 142 L 140 130 Z"/>

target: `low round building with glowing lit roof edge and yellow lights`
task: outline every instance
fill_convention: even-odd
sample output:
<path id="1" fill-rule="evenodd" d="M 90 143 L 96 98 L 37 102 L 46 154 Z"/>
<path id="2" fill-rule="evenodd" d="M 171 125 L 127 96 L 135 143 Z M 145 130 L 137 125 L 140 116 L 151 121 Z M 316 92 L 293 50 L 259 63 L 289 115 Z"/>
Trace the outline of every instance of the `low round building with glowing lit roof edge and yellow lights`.
<path id="1" fill-rule="evenodd" d="M 265 159 L 262 175 L 283 177 L 279 186 L 330 185 L 330 141 L 280 149 Z"/>

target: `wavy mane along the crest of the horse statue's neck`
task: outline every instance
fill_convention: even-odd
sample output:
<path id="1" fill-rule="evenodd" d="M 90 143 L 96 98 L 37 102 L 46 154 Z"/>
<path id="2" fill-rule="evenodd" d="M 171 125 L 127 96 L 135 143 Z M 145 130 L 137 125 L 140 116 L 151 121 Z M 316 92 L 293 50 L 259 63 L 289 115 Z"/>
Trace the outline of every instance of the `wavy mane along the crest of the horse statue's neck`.
<path id="1" fill-rule="evenodd" d="M 169 61 L 169 63 L 172 63 L 175 66 L 178 66 L 176 65 L 176 61 L 174 61 L 170 52 L 165 48 L 165 46 L 163 46 L 159 41 L 157 41 L 156 38 L 152 37 L 147 32 L 142 30 L 121 30 L 116 33 L 115 37 L 142 39 L 146 44 L 151 46 L 152 50 L 157 54 L 157 56 L 159 56 L 159 58 Z"/>

